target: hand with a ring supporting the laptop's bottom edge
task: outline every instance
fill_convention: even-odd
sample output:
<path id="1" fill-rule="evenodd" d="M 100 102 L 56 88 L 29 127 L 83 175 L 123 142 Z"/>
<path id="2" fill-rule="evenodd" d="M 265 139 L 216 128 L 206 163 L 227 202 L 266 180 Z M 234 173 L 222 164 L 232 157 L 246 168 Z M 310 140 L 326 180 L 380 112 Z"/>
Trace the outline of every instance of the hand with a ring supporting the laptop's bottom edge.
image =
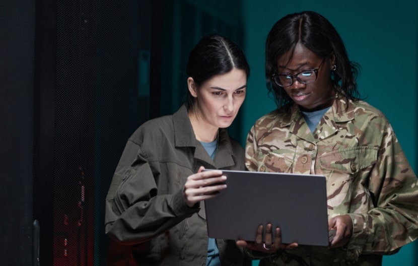
<path id="1" fill-rule="evenodd" d="M 265 241 L 263 242 L 263 225 L 258 226 L 254 242 L 247 242 L 244 240 L 237 240 L 238 246 L 247 247 L 252 250 L 261 251 L 264 253 L 276 252 L 280 249 L 292 249 L 298 246 L 298 243 L 283 244 L 282 231 L 280 227 L 274 230 L 274 241 L 272 237 L 272 225 L 267 224 L 265 228 Z"/>

